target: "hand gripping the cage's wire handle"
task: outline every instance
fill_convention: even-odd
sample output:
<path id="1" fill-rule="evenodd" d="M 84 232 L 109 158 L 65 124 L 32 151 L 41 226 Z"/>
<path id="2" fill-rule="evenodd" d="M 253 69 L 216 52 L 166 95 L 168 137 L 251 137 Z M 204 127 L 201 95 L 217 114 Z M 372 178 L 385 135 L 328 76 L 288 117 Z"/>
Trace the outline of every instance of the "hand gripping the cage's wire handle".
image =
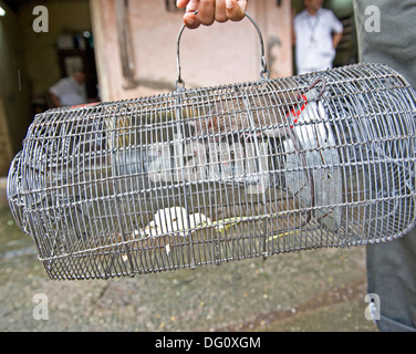
<path id="1" fill-rule="evenodd" d="M 240 21 L 245 17 L 248 0 L 177 0 L 178 8 L 186 8 L 184 23 L 189 29 L 215 21 Z M 198 13 L 195 14 L 195 11 Z"/>

